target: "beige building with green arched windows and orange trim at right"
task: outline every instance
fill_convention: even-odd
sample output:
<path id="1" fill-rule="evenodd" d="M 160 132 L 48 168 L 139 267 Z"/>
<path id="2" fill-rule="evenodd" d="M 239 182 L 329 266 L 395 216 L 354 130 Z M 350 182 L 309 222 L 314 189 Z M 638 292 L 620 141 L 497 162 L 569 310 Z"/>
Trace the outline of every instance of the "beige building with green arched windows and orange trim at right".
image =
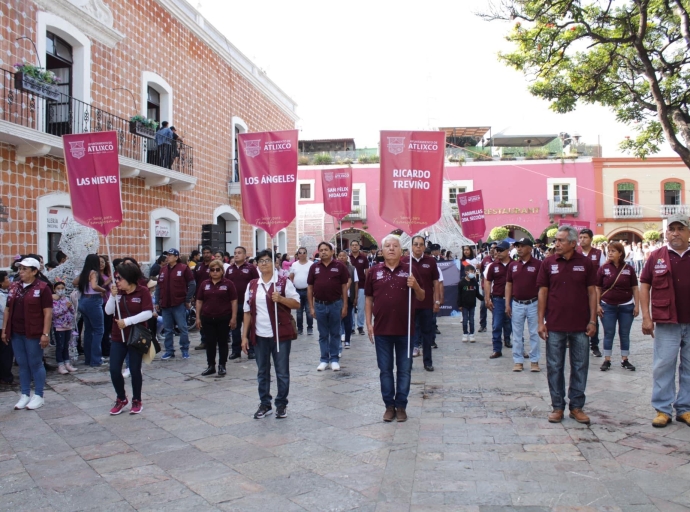
<path id="1" fill-rule="evenodd" d="M 687 166 L 680 158 L 594 158 L 596 234 L 639 242 L 664 219 L 690 213 Z"/>

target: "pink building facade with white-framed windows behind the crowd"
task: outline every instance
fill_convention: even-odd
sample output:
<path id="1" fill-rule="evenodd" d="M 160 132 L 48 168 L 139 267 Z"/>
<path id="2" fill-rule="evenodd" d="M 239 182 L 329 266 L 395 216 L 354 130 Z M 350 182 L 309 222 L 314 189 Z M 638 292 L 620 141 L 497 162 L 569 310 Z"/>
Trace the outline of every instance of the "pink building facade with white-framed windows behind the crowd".
<path id="1" fill-rule="evenodd" d="M 301 166 L 298 170 L 298 239 L 340 241 L 340 224 L 323 210 L 322 170 L 338 166 Z M 353 213 L 342 221 L 343 246 L 361 239 L 365 247 L 395 230 L 378 215 L 379 166 L 353 167 Z M 486 233 L 508 227 L 510 236 L 539 238 L 554 224 L 589 225 L 596 230 L 594 166 L 591 159 L 565 161 L 492 161 L 446 164 L 443 200 L 482 190 Z M 369 243 L 367 243 L 369 242 Z"/>

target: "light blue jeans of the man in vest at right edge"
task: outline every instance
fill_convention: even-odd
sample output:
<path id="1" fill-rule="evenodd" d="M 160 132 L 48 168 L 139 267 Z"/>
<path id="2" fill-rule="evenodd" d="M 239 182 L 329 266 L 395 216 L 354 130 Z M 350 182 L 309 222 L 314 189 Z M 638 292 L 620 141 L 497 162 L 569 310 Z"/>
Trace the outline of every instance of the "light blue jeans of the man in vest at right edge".
<path id="1" fill-rule="evenodd" d="M 660 324 L 654 329 L 652 407 L 676 414 L 690 411 L 690 324 Z M 676 364 L 678 395 L 676 395 Z"/>

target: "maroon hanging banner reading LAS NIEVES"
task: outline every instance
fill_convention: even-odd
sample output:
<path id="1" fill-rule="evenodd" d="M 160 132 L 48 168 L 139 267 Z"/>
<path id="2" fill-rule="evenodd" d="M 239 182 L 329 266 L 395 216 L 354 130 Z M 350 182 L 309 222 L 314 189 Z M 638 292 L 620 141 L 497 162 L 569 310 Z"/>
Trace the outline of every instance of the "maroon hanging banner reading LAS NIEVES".
<path id="1" fill-rule="evenodd" d="M 63 135 L 74 220 L 108 236 L 122 224 L 117 132 Z"/>

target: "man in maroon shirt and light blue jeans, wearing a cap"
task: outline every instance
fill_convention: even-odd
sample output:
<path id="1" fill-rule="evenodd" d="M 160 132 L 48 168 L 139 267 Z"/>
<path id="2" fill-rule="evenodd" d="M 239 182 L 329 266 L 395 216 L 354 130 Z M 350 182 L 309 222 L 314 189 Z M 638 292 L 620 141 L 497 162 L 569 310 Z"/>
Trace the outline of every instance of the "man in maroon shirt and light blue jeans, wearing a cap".
<path id="1" fill-rule="evenodd" d="M 541 357 L 539 334 L 537 329 L 537 276 L 541 268 L 541 261 L 532 256 L 533 243 L 529 238 L 518 240 L 515 245 L 518 250 L 517 261 L 508 265 L 508 281 L 506 283 L 506 315 L 512 319 L 513 329 L 513 371 L 521 372 L 525 362 L 524 340 L 525 321 L 529 329 L 529 360 L 530 371 L 539 371 Z"/>

